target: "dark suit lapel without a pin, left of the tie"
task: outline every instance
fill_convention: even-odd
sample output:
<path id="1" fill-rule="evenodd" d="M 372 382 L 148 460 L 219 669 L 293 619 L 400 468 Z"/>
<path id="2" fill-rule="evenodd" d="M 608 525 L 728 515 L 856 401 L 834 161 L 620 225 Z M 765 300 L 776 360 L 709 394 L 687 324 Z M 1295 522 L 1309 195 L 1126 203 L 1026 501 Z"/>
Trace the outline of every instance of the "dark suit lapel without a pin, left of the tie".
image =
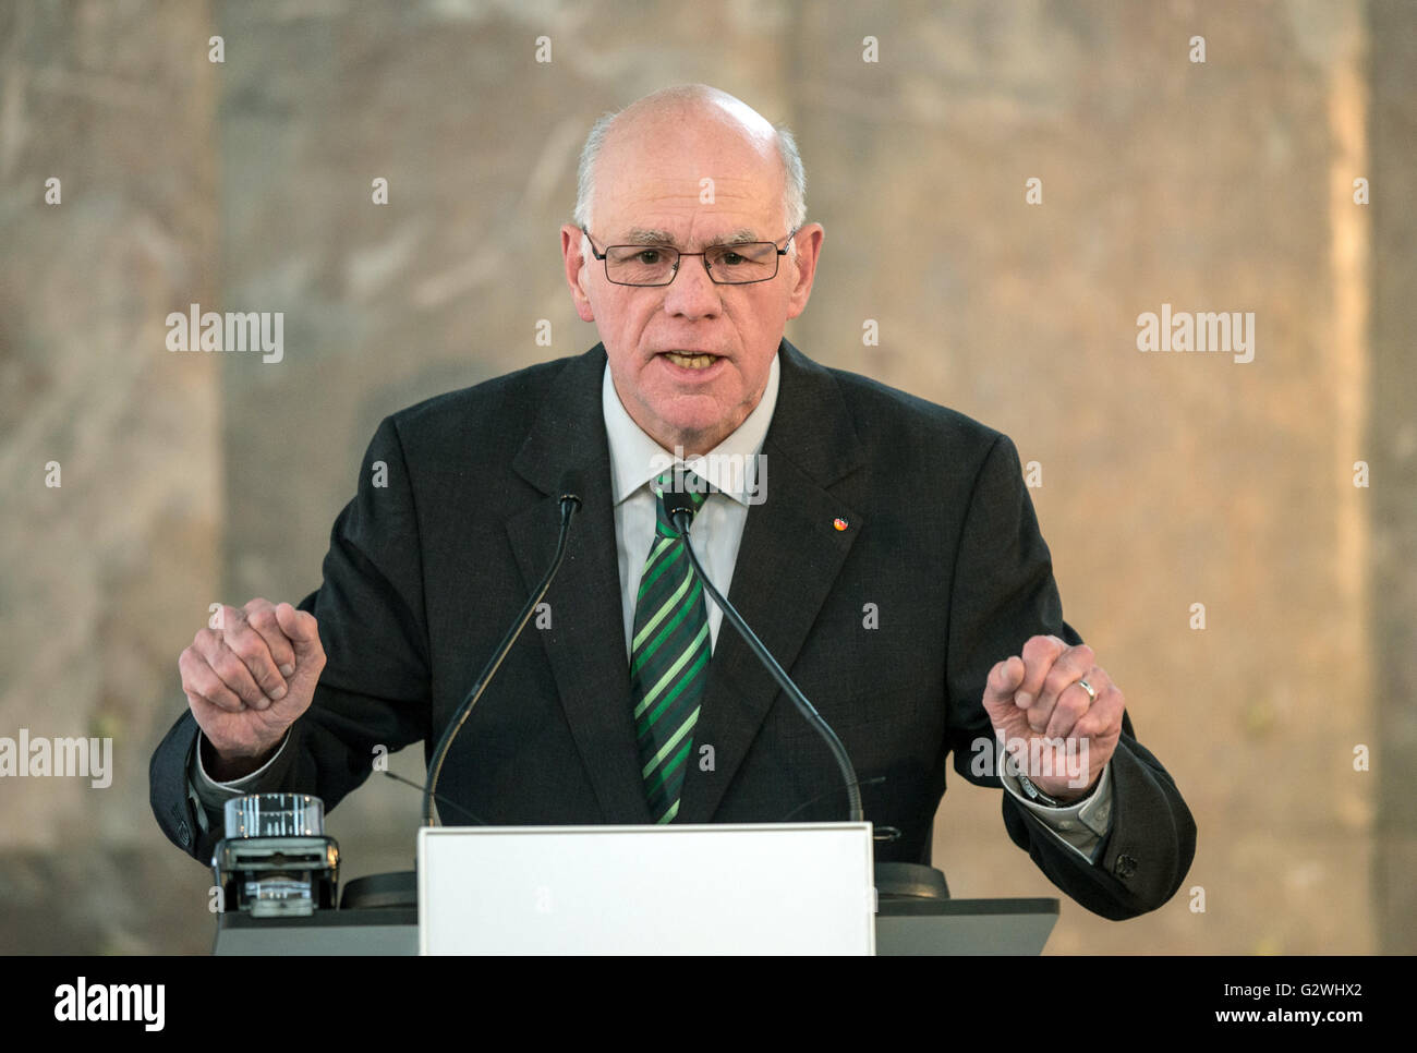
<path id="1" fill-rule="evenodd" d="M 547 592 L 551 629 L 534 635 L 551 662 L 602 822 L 643 823 L 650 815 L 639 777 L 625 663 L 609 444 L 601 411 L 604 370 L 605 350 L 597 344 L 557 377 L 513 462 L 516 472 L 547 496 L 509 519 L 507 536 L 530 591 L 555 553 L 565 475 L 577 475 L 582 505 L 571 524 L 565 563 Z"/>

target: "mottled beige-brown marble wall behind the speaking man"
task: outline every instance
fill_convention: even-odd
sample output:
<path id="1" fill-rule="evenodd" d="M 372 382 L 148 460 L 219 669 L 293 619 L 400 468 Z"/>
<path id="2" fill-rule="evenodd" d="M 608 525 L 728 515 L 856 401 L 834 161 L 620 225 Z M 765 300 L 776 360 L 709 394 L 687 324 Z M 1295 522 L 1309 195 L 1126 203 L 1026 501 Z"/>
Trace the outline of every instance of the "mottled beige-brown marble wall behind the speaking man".
<path id="1" fill-rule="evenodd" d="M 113 741 L 102 789 L 0 778 L 0 952 L 210 947 L 147 806 L 179 652 L 210 602 L 319 584 L 381 417 L 595 343 L 577 152 L 686 81 L 796 132 L 828 234 L 789 339 L 1037 462 L 1067 618 L 1196 815 L 1172 903 L 1064 901 L 1049 950 L 1417 950 L 1414 30 L 1397 0 L 0 6 L 0 736 Z M 283 359 L 169 351 L 190 303 L 283 312 Z M 1163 303 L 1253 312 L 1253 361 L 1139 353 Z M 341 805 L 346 877 L 411 866 L 417 812 L 387 779 Z M 935 852 L 956 896 L 1056 894 L 958 779 Z"/>

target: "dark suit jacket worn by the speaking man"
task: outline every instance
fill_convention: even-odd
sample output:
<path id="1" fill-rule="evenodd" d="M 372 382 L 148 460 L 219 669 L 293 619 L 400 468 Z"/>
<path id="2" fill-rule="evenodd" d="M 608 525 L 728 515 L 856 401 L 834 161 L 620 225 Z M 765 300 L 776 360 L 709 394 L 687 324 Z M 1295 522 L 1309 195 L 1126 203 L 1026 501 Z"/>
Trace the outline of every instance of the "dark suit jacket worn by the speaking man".
<path id="1" fill-rule="evenodd" d="M 557 496 L 584 506 L 551 587 L 551 625 L 527 626 L 449 755 L 439 795 L 499 825 L 649 822 L 631 719 L 605 351 L 521 370 L 387 418 L 340 513 L 324 582 L 302 602 L 329 662 L 273 781 L 329 808 L 374 750 L 422 740 L 449 714 L 555 547 Z M 767 500 L 750 509 L 730 599 L 845 741 L 866 818 L 896 826 L 877 859 L 931 859 L 951 751 L 971 772 L 992 740 L 990 666 L 1034 634 L 1070 643 L 1051 560 L 1007 437 L 958 412 L 825 368 L 784 342 L 764 444 Z M 387 465 L 387 486 L 371 483 Z M 835 520 L 843 519 L 846 530 Z M 867 607 L 873 605 L 873 607 Z M 874 611 L 873 619 L 869 614 Z M 186 794 L 197 726 L 184 713 L 153 755 L 152 804 L 177 845 L 210 859 Z M 700 747 L 713 747 L 711 767 Z M 830 755 L 727 625 L 718 635 L 679 822 L 837 821 Z M 1090 910 L 1131 917 L 1176 891 L 1195 825 L 1128 720 L 1112 758 L 1112 829 L 1088 865 L 1003 794 L 1009 836 Z M 458 822 L 456 812 L 448 812 Z M 944 866 L 968 845 L 944 846 Z"/>

